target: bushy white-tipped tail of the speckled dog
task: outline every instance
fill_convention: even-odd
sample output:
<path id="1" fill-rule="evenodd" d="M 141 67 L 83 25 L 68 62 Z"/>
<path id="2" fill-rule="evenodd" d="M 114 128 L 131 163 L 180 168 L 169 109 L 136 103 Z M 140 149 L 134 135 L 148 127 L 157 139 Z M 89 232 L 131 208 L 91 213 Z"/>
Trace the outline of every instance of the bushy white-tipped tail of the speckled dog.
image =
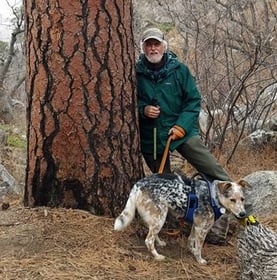
<path id="1" fill-rule="evenodd" d="M 130 192 L 126 206 L 122 213 L 115 219 L 114 230 L 123 230 L 126 228 L 134 219 L 136 213 L 136 196 L 138 188 L 136 185 Z"/>

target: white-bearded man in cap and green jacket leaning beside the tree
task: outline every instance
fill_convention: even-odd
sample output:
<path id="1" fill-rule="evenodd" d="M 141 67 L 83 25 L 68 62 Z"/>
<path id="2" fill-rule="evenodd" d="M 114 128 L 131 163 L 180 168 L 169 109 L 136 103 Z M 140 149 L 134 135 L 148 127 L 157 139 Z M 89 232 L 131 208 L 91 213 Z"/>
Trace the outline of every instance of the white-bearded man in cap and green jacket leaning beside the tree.
<path id="1" fill-rule="evenodd" d="M 209 179 L 230 181 L 227 172 L 199 135 L 201 97 L 195 81 L 176 55 L 167 50 L 164 34 L 147 29 L 136 64 L 141 151 L 152 172 L 157 172 L 166 141 Z M 164 172 L 171 172 L 167 157 Z"/>

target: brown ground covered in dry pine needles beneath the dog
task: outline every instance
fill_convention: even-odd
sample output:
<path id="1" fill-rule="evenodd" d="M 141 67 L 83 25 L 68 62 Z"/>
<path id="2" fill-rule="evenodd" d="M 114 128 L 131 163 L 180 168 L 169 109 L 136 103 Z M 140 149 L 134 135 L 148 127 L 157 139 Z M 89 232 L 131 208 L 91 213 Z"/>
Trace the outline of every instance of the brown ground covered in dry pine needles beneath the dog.
<path id="1" fill-rule="evenodd" d="M 186 236 L 163 231 L 168 245 L 159 251 L 167 258 L 157 262 L 140 223 L 114 232 L 113 219 L 82 210 L 28 209 L 20 200 L 3 208 L 0 279 L 239 279 L 235 236 L 225 246 L 205 244 L 208 265 L 201 266 L 184 247 Z"/>

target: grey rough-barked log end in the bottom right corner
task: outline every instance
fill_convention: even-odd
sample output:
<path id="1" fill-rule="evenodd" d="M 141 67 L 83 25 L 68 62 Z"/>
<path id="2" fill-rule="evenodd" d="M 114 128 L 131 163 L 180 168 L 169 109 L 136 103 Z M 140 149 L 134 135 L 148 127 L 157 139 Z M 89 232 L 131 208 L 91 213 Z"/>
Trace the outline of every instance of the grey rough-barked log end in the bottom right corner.
<path id="1" fill-rule="evenodd" d="M 262 224 L 249 225 L 238 236 L 241 280 L 277 279 L 277 234 Z"/>

